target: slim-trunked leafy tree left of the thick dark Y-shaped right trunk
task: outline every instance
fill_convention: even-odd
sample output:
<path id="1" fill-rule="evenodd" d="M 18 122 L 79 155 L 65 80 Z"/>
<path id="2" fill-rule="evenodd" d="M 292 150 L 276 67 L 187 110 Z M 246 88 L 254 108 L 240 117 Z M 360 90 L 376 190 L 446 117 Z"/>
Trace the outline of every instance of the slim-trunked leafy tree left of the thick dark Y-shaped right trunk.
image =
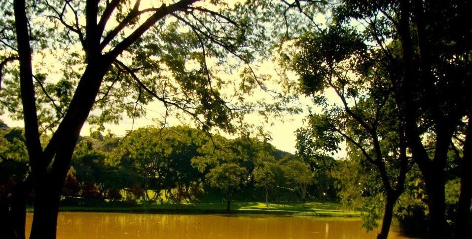
<path id="1" fill-rule="evenodd" d="M 375 166 L 387 196 L 378 238 L 387 238 L 408 170 L 404 126 L 389 82 L 391 73 L 375 64 L 382 58 L 377 59 L 375 49 L 369 50 L 363 41 L 355 29 L 335 22 L 296 41 L 299 51 L 291 67 L 300 76 L 300 89 L 324 107 L 323 114 L 311 115 L 307 128 L 298 130 L 299 139 L 308 138 L 314 145 L 298 147 L 305 154 L 316 147 L 336 151 L 343 138 Z M 339 103 L 329 102 L 327 91 Z"/>

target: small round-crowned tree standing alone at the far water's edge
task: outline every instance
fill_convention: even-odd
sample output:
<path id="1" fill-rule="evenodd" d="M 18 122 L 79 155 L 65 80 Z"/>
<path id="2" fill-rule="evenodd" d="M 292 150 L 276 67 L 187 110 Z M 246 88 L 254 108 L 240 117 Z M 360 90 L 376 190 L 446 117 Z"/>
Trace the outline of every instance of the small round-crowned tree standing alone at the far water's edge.
<path id="1" fill-rule="evenodd" d="M 222 163 L 214 167 L 205 175 L 210 186 L 220 189 L 226 197 L 226 211 L 229 206 L 233 193 L 239 190 L 242 184 L 245 184 L 248 176 L 246 168 L 238 166 L 235 163 Z"/>

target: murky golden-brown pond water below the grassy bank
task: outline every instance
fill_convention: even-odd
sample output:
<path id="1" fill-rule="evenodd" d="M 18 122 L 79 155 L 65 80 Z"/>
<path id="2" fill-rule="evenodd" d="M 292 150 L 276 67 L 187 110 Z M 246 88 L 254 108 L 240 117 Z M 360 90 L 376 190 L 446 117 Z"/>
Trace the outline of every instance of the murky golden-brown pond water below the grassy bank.
<path id="1" fill-rule="evenodd" d="M 33 215 L 27 215 L 27 235 Z M 60 212 L 58 239 L 374 239 L 359 220 L 273 215 Z M 394 232 L 389 238 L 400 239 Z"/>

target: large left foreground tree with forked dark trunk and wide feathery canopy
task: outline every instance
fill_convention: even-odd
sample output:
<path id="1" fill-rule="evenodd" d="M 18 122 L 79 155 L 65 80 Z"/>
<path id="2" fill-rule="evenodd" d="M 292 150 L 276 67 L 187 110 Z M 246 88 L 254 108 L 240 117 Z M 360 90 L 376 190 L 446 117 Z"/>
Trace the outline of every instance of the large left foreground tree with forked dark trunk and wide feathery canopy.
<path id="1" fill-rule="evenodd" d="M 229 82 L 211 71 L 207 59 L 216 65 L 236 62 L 227 69 L 240 62 L 249 68 L 254 48 L 246 46 L 259 45 L 263 31 L 251 30 L 256 24 L 246 10 L 232 11 L 218 0 L 211 8 L 197 2 L 149 7 L 139 0 L 1 2 L 3 9 L 13 9 L 1 16 L 1 59 L 19 65 L 19 71 L 4 71 L 2 99 L 21 92 L 5 97 L 2 107 L 25 122 L 33 183 L 24 190 L 35 190 L 31 238 L 55 238 L 60 193 L 85 120 L 100 125 L 118 122 L 121 113 L 143 116 L 143 105 L 155 99 L 167 113 L 180 110 L 205 130 L 217 126 L 234 133 L 234 124 L 251 111 L 242 91 L 230 94 L 240 101 L 237 107 L 225 101 L 221 89 Z M 228 54 L 239 61 L 226 61 Z M 60 62 L 33 69 L 38 55 Z M 57 74 L 49 75 L 51 68 Z M 252 82 L 243 85 L 244 92 L 255 87 Z M 89 116 L 93 109 L 101 113 Z M 43 148 L 39 136 L 45 130 L 53 134 Z"/>

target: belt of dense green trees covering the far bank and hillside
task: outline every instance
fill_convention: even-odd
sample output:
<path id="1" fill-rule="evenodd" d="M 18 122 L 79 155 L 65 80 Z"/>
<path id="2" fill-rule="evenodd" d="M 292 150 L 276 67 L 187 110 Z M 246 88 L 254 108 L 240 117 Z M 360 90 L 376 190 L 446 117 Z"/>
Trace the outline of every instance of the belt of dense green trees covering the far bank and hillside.
<path id="1" fill-rule="evenodd" d="M 2 128 L 2 185 L 29 173 L 21 128 Z M 11 155 L 10 150 L 22 149 Z M 326 157 L 334 163 L 334 159 Z M 125 137 L 80 137 L 63 188 L 63 204 L 88 199 L 135 203 L 337 200 L 308 162 L 256 139 L 226 139 L 186 126 L 145 127 Z M 323 191 L 323 189 L 327 189 Z M 90 200 L 88 200 L 90 201 Z M 131 203 L 131 204 L 130 204 Z M 119 204 L 119 203 L 118 203 Z M 123 204 L 122 204 L 123 205 Z M 268 205 L 268 204 L 267 204 Z"/>

